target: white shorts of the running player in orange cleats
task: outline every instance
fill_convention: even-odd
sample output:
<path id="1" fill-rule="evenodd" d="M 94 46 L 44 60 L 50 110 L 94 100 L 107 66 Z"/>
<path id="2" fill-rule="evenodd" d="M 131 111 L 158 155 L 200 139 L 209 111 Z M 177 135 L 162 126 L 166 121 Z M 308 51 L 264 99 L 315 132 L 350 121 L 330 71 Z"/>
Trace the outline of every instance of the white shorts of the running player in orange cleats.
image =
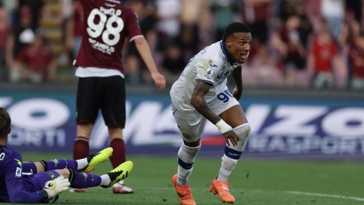
<path id="1" fill-rule="evenodd" d="M 218 94 L 214 100 L 208 103 L 208 105 L 211 107 L 212 111 L 214 111 L 214 114 L 219 116 L 219 114 L 222 114 L 230 107 L 240 104 L 227 89 L 221 94 Z M 183 140 L 186 142 L 196 142 L 201 138 L 203 129 L 205 129 L 206 118 L 202 116 L 199 111 L 179 111 L 172 103 L 172 113 Z"/>

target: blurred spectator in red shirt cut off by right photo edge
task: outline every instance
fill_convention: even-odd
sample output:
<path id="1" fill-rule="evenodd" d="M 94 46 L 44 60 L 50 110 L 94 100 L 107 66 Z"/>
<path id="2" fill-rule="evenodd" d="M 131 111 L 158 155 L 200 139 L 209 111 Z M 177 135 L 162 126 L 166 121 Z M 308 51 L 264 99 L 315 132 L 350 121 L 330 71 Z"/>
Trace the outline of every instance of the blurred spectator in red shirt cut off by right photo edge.
<path id="1" fill-rule="evenodd" d="M 350 47 L 349 59 L 351 65 L 350 87 L 352 89 L 364 89 L 364 34 L 354 38 Z"/>

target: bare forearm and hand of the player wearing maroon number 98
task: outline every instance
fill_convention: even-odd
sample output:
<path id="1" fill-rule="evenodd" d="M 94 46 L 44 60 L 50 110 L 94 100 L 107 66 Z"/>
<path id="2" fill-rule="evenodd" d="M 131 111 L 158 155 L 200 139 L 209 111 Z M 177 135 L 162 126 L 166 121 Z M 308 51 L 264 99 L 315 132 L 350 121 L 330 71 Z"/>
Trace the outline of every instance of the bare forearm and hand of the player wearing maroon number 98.
<path id="1" fill-rule="evenodd" d="M 141 58 L 143 58 L 145 65 L 147 65 L 150 74 L 152 75 L 152 78 L 155 82 L 155 86 L 158 89 L 164 89 L 165 78 L 158 72 L 158 69 L 156 69 L 156 65 L 154 63 L 152 53 L 150 52 L 150 47 L 148 45 L 148 42 L 144 38 L 136 38 L 134 39 L 134 43 L 136 49 L 141 55 Z"/>

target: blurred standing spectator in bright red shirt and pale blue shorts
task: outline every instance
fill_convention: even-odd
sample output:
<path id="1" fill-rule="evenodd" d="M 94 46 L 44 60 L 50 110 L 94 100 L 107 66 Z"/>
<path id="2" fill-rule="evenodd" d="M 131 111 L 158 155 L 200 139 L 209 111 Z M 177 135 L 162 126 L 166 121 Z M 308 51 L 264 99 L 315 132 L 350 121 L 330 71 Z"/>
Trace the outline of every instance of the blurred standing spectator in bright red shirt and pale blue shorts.
<path id="1" fill-rule="evenodd" d="M 307 61 L 310 74 L 314 76 L 312 85 L 315 88 L 336 86 L 332 61 L 338 69 L 338 76 L 346 76 L 347 68 L 338 55 L 336 42 L 330 34 L 328 23 L 325 20 L 321 21 L 321 30 L 314 38 Z"/>

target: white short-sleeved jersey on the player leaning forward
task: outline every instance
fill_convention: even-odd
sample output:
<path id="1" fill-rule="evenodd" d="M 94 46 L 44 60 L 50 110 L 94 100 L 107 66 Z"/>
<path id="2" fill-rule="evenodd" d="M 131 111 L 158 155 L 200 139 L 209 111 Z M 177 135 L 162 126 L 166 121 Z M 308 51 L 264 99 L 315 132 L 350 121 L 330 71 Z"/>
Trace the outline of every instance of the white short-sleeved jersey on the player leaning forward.
<path id="1" fill-rule="evenodd" d="M 226 89 L 226 78 L 240 65 L 241 63 L 232 63 L 223 41 L 205 47 L 191 58 L 179 79 L 172 85 L 170 96 L 173 105 L 179 111 L 193 111 L 190 100 L 196 82 L 212 85 L 205 95 L 206 102 L 211 102 Z"/>

